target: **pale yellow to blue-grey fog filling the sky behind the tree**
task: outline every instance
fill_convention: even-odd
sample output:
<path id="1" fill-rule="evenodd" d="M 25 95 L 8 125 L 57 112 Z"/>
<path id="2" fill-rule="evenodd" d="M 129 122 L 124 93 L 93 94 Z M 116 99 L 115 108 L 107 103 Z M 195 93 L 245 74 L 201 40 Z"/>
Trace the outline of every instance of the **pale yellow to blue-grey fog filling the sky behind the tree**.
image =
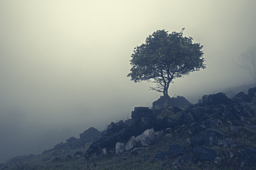
<path id="1" fill-rule="evenodd" d="M 93 126 L 131 117 L 161 93 L 126 77 L 131 54 L 156 30 L 203 45 L 206 69 L 169 96 L 252 82 L 232 65 L 256 46 L 256 1 L 0 1 L 0 162 L 38 154 Z"/>

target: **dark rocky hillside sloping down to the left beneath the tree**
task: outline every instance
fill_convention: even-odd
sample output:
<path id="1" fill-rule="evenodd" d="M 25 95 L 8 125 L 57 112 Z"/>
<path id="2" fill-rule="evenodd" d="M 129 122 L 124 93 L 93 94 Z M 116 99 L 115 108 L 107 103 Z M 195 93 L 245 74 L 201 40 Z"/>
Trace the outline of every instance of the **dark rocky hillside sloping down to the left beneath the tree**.
<path id="1" fill-rule="evenodd" d="M 0 169 L 254 169 L 255 94 L 256 87 L 232 99 L 204 95 L 195 105 L 179 96 L 169 110 L 158 99 L 157 107 L 135 107 L 132 119 L 103 132 L 91 127 L 79 139 L 17 156 Z"/>

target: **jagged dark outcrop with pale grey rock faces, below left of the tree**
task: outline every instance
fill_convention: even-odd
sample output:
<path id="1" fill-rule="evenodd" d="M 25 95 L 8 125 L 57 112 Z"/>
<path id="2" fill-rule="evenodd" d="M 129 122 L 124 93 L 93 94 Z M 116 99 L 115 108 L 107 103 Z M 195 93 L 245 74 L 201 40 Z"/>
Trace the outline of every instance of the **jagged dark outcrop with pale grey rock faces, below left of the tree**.
<path id="1" fill-rule="evenodd" d="M 168 116 L 157 119 L 148 107 L 135 107 L 131 117 L 132 121 L 112 122 L 100 139 L 90 145 L 85 156 L 103 155 L 103 149 L 107 153 L 119 154 L 135 147 L 154 144 L 160 135 L 171 136 L 170 128 L 174 124 Z"/>

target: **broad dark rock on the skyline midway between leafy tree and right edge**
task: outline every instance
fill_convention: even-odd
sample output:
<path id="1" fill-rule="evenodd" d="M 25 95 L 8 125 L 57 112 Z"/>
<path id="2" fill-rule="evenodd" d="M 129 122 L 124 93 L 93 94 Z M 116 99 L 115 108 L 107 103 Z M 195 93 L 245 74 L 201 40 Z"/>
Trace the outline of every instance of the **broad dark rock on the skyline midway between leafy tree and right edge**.
<path id="1" fill-rule="evenodd" d="M 217 94 L 204 95 L 202 97 L 202 100 L 204 104 L 208 104 L 208 105 L 223 104 L 230 101 L 230 99 L 222 92 Z"/>

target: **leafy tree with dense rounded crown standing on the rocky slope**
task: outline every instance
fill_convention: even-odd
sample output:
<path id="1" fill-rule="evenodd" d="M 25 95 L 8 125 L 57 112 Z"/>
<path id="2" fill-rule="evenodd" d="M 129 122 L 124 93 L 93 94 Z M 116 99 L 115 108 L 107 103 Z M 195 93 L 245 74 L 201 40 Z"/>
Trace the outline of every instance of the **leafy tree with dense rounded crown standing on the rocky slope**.
<path id="1" fill-rule="evenodd" d="M 193 43 L 192 37 L 180 33 L 157 30 L 146 38 L 145 44 L 134 48 L 127 77 L 136 82 L 156 83 L 152 90 L 162 92 L 164 108 L 169 107 L 168 88 L 174 79 L 205 69 L 203 46 Z"/>

